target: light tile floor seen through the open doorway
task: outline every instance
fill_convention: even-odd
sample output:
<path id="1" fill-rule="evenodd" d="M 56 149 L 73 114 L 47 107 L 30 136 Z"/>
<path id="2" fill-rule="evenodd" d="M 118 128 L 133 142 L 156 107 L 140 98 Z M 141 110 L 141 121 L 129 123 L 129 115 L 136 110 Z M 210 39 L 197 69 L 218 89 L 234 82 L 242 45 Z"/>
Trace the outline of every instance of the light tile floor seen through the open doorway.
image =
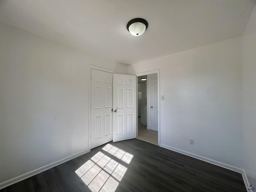
<path id="1" fill-rule="evenodd" d="M 158 132 L 148 130 L 146 125 L 142 125 L 138 118 L 138 137 L 137 139 L 158 145 Z"/>

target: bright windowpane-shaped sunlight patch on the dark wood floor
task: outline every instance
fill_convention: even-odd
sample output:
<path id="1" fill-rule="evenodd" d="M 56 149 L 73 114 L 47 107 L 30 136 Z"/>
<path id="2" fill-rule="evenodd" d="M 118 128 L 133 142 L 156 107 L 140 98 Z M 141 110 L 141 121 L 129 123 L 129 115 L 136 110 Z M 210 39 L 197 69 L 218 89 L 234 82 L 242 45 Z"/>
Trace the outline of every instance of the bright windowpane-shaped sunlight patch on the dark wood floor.
<path id="1" fill-rule="evenodd" d="M 111 144 L 107 144 L 102 149 L 127 164 L 130 164 L 133 158 L 132 154 Z M 126 170 L 126 166 L 98 152 L 75 173 L 92 192 L 115 192 Z"/>

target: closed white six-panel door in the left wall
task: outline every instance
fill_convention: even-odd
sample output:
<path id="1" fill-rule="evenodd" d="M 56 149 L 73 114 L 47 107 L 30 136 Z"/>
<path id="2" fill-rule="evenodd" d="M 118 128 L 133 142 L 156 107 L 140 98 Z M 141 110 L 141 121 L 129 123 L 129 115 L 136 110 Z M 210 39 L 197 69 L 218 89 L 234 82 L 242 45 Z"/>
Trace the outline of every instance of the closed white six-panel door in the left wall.
<path id="1" fill-rule="evenodd" d="M 113 139 L 113 74 L 91 70 L 91 149 Z"/>

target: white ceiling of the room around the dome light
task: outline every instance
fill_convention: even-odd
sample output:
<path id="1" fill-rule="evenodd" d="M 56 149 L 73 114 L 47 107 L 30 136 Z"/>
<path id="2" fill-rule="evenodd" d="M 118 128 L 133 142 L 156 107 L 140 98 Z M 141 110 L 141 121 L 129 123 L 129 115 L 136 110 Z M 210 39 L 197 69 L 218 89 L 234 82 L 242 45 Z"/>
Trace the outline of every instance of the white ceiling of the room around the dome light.
<path id="1" fill-rule="evenodd" d="M 242 36 L 255 0 L 0 0 L 0 22 L 134 64 Z M 126 24 L 144 18 L 132 36 Z"/>

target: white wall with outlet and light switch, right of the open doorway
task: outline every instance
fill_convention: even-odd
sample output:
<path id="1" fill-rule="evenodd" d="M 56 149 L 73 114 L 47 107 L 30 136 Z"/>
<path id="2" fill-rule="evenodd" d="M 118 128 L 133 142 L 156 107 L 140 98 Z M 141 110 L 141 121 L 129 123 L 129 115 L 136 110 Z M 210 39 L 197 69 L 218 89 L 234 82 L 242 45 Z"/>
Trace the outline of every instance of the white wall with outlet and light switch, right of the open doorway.
<path id="1" fill-rule="evenodd" d="M 156 69 L 160 143 L 242 168 L 242 37 L 130 65 L 128 73 Z"/>

